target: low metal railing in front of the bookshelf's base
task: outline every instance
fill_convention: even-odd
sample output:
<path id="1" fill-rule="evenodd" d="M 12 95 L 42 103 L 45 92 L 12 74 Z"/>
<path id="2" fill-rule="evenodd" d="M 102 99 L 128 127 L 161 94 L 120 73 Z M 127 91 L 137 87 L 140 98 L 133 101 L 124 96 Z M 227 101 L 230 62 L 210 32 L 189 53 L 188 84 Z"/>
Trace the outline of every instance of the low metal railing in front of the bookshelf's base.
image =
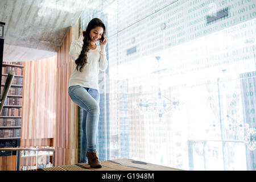
<path id="1" fill-rule="evenodd" d="M 39 148 L 39 147 L 13 147 L 13 148 L 0 148 L 0 152 L 3 151 L 48 151 L 48 152 L 52 152 L 52 165 L 55 166 L 55 148 Z M 15 163 L 15 169 L 16 171 L 19 171 L 19 164 L 18 164 L 18 160 L 19 160 L 19 153 L 16 152 L 16 163 Z M 28 155 L 30 156 L 30 155 Z M 37 155 L 36 155 L 37 156 Z M 32 156 L 31 156 L 32 157 Z M 37 159 L 36 159 L 37 162 Z"/>

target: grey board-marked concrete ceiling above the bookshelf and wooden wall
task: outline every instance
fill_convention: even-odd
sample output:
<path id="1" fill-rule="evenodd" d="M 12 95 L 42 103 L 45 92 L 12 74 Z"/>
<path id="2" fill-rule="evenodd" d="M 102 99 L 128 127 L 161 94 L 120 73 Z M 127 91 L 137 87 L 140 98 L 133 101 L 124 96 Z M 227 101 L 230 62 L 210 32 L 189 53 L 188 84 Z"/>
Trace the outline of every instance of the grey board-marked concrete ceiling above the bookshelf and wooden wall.
<path id="1" fill-rule="evenodd" d="M 113 0 L 0 0 L 5 24 L 3 61 L 31 61 L 55 56 L 82 11 L 102 10 Z"/>

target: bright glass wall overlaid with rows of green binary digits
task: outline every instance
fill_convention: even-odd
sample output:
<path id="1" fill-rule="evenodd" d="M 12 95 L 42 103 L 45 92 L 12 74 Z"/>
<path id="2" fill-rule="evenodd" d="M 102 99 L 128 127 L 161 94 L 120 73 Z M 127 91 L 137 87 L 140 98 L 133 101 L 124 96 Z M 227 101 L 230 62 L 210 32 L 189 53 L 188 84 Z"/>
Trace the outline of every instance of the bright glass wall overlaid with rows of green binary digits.
<path id="1" fill-rule="evenodd" d="M 255 1 L 118 0 L 86 17 L 102 14 L 104 155 L 187 170 L 255 170 Z"/>

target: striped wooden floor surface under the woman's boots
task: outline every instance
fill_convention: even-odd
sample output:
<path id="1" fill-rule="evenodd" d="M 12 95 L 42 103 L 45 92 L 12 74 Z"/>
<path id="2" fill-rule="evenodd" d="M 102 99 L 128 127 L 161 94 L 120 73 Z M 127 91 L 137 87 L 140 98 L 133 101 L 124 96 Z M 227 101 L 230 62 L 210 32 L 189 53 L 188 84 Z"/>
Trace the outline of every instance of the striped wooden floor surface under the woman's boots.
<path id="1" fill-rule="evenodd" d="M 133 159 L 113 159 L 101 161 L 102 168 L 91 168 L 88 163 L 71 164 L 32 171 L 182 171 L 181 169 L 159 166 Z"/>

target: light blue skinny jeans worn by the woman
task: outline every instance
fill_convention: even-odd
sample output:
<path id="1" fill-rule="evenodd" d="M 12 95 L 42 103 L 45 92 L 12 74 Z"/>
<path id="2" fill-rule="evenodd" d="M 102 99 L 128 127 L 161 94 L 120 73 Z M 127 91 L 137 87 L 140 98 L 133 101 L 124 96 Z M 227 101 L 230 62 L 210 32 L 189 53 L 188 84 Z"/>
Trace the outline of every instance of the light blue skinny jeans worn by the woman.
<path id="1" fill-rule="evenodd" d="M 80 85 L 69 86 L 69 96 L 83 110 L 80 163 L 88 162 L 86 152 L 97 151 L 96 137 L 100 117 L 100 93 Z"/>

